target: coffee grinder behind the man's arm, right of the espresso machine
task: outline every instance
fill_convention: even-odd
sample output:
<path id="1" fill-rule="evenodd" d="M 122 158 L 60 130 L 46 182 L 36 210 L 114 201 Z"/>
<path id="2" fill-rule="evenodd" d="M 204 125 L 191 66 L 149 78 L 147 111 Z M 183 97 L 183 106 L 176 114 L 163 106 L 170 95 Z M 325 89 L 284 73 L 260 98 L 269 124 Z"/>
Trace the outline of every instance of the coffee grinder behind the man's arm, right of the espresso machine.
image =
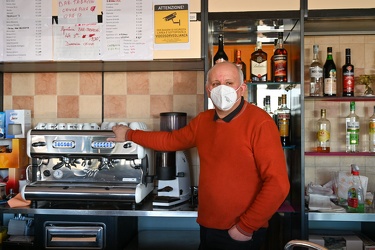
<path id="1" fill-rule="evenodd" d="M 172 131 L 186 126 L 186 113 L 160 113 L 160 130 Z M 190 170 L 183 151 L 155 151 L 157 196 L 154 206 L 169 207 L 190 199 Z"/>

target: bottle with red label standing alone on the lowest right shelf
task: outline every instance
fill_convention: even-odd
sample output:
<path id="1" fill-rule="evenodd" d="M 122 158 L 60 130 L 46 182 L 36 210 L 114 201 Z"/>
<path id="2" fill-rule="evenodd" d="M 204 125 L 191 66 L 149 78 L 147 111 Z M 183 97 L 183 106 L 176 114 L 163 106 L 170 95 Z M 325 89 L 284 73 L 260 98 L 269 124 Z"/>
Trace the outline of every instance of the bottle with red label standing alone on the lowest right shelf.
<path id="1" fill-rule="evenodd" d="M 351 165 L 352 168 L 352 185 L 348 189 L 348 213 L 364 213 L 365 197 L 361 179 L 359 175 L 359 167 L 356 164 Z"/>

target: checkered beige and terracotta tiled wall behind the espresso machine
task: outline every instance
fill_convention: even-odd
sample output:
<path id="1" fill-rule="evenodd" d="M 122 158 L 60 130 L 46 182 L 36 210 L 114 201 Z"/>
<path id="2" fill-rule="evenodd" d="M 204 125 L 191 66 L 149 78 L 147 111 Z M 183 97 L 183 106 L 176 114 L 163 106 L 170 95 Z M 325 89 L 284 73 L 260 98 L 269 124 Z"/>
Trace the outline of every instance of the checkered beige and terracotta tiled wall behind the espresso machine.
<path id="1" fill-rule="evenodd" d="M 161 112 L 204 110 L 204 72 L 6 73 L 4 110 L 30 109 L 32 122 L 142 121 L 159 129 Z M 102 84 L 104 82 L 104 84 Z M 102 101 L 103 100 L 103 101 Z M 103 104 L 103 105 L 102 105 Z M 189 150 L 192 184 L 199 160 Z"/>

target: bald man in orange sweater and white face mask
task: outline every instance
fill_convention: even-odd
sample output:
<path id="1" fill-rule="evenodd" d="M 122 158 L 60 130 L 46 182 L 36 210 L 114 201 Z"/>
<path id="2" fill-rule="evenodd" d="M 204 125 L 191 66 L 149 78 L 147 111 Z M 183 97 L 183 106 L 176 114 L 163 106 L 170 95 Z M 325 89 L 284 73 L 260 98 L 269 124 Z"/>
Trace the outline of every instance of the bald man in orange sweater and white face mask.
<path id="1" fill-rule="evenodd" d="M 277 126 L 244 100 L 246 84 L 233 63 L 213 66 L 206 91 L 215 109 L 179 130 L 142 131 L 118 125 L 111 141 L 134 141 L 157 151 L 197 147 L 200 159 L 200 250 L 260 249 L 268 221 L 289 192 Z"/>

